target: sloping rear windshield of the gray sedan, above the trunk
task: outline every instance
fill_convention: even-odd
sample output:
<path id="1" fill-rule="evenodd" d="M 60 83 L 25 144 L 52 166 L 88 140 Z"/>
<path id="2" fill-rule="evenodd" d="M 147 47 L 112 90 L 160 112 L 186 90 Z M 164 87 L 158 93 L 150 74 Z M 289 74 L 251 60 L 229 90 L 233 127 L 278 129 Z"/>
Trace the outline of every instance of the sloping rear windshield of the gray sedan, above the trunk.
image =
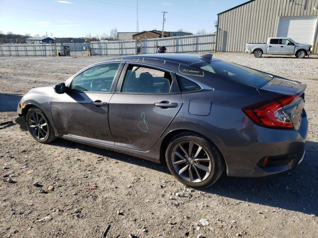
<path id="1" fill-rule="evenodd" d="M 221 60 L 204 63 L 199 65 L 199 67 L 210 73 L 252 87 L 263 86 L 272 79 L 272 77 L 266 73 Z"/>

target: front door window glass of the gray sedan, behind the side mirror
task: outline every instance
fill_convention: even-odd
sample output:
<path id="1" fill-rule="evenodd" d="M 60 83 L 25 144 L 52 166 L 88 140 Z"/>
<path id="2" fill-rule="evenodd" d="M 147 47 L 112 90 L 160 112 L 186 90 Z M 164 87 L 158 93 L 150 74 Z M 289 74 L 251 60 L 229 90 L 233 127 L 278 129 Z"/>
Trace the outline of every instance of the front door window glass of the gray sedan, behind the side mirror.
<path id="1" fill-rule="evenodd" d="M 109 92 L 120 63 L 107 63 L 86 69 L 77 75 L 71 90 L 79 92 Z"/>

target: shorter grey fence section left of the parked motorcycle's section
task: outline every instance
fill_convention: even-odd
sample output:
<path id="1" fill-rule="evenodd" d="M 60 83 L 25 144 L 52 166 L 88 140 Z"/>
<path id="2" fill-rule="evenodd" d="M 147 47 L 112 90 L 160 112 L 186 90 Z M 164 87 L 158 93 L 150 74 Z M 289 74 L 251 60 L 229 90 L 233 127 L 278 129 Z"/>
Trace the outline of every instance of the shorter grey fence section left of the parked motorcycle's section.
<path id="1" fill-rule="evenodd" d="M 137 54 L 135 40 L 91 42 L 90 54 L 92 56 L 127 56 Z"/>

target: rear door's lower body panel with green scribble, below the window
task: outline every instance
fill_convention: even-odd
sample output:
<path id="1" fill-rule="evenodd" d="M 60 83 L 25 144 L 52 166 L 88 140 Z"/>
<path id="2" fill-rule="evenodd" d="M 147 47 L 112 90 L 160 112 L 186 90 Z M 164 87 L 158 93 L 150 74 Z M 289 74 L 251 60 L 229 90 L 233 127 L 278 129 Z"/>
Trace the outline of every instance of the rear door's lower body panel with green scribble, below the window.
<path id="1" fill-rule="evenodd" d="M 160 102 L 177 105 L 173 108 L 155 106 L 155 103 Z M 181 94 L 115 93 L 109 102 L 109 125 L 115 145 L 140 151 L 150 150 L 176 116 L 181 105 Z"/>

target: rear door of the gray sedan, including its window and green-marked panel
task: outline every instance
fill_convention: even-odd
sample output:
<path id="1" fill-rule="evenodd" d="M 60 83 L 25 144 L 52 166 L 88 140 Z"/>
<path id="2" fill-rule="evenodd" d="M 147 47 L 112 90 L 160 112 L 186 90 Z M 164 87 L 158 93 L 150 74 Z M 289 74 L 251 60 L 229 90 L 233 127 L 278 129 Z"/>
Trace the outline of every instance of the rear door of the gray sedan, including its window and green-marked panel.
<path id="1" fill-rule="evenodd" d="M 126 63 L 109 102 L 115 145 L 150 150 L 182 105 L 175 75 L 145 64 Z"/>

